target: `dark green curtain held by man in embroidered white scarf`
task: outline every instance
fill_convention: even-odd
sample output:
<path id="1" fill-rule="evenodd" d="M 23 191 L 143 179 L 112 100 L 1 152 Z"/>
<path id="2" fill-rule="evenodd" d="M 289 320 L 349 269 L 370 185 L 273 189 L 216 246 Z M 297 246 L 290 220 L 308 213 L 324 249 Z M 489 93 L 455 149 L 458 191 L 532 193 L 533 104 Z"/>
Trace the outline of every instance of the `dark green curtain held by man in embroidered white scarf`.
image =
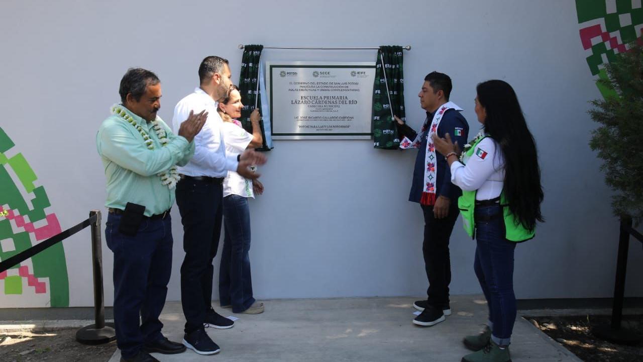
<path id="1" fill-rule="evenodd" d="M 393 115 L 406 120 L 401 46 L 380 46 L 377 51 L 372 115 L 374 148 L 399 148 Z"/>

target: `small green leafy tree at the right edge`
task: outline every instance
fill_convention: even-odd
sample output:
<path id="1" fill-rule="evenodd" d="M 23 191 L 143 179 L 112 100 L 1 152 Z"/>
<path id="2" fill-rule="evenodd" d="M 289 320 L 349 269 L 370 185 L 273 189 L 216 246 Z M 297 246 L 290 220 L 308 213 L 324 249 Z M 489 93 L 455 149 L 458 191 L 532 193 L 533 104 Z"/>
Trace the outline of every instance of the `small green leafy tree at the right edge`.
<path id="1" fill-rule="evenodd" d="M 643 220 L 643 48 L 630 51 L 605 65 L 611 88 L 605 99 L 592 100 L 592 120 L 601 124 L 592 131 L 590 148 L 603 160 L 605 182 L 613 187 L 611 206 L 617 216 Z M 608 93 L 608 92 L 604 92 Z"/>

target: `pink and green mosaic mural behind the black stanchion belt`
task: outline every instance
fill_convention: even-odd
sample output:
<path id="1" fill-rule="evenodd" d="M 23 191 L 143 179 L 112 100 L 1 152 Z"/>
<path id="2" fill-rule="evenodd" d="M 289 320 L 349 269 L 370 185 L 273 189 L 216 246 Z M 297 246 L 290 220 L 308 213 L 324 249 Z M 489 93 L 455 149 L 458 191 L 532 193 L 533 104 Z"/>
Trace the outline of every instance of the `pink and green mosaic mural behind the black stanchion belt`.
<path id="1" fill-rule="evenodd" d="M 0 128 L 0 260 L 60 233 L 44 187 L 22 153 Z M 69 306 L 69 279 L 62 243 L 0 272 L 0 296 L 42 300 L 41 307 Z M 38 298 L 40 297 L 40 298 Z M 24 302 L 28 300 L 23 300 Z M 3 303 L 4 304 L 4 303 Z M 33 303 L 21 305 L 34 306 Z"/>

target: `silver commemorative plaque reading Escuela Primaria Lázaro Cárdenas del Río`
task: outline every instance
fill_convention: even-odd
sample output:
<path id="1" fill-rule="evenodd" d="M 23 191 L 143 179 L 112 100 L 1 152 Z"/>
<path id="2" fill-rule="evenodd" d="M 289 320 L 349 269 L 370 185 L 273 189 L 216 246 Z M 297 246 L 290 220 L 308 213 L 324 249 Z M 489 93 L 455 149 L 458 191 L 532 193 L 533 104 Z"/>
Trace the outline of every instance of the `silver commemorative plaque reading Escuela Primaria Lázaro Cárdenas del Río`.
<path id="1" fill-rule="evenodd" d="M 267 62 L 274 139 L 368 139 L 374 62 Z"/>

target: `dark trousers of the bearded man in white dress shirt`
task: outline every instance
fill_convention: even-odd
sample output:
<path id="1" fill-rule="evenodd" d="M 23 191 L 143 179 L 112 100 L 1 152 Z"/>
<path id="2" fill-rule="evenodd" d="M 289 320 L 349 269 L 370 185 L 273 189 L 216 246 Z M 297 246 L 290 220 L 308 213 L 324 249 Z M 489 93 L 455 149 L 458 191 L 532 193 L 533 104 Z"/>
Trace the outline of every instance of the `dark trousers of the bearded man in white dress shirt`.
<path id="1" fill-rule="evenodd" d="M 185 332 L 203 328 L 212 309 L 212 260 L 221 236 L 222 185 L 220 182 L 185 178 L 176 186 L 176 204 L 183 224 L 181 305 Z"/>

